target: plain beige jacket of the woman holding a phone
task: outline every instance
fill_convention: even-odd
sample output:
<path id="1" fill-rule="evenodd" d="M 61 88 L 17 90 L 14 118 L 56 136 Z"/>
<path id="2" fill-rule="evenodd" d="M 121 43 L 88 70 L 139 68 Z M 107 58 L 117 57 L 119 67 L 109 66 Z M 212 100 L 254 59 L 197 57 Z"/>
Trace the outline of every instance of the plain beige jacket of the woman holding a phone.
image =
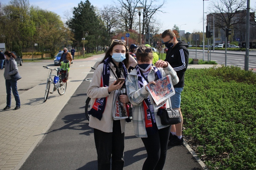
<path id="1" fill-rule="evenodd" d="M 109 62 L 109 65 L 110 65 L 110 68 L 115 73 L 116 69 L 114 68 L 113 63 Z M 94 71 L 93 79 L 91 80 L 91 84 L 87 90 L 87 96 L 91 98 L 91 108 L 93 107 L 93 104 L 96 98 L 103 98 L 103 97 L 108 97 L 108 98 L 107 98 L 106 106 L 102 114 L 101 120 L 90 115 L 89 126 L 91 128 L 95 128 L 100 131 L 110 133 L 110 132 L 113 132 L 114 119 L 112 116 L 112 112 L 113 112 L 112 105 L 113 105 L 115 91 L 111 91 L 111 93 L 109 94 L 108 87 L 100 87 L 100 80 L 101 80 L 103 66 L 104 64 L 101 63 Z M 117 77 L 117 76 L 115 77 L 113 72 L 110 70 L 109 85 L 112 84 Z M 122 72 L 121 78 L 124 78 L 123 72 Z M 121 131 L 122 133 L 124 133 L 126 120 L 122 119 L 120 123 L 121 123 Z"/>

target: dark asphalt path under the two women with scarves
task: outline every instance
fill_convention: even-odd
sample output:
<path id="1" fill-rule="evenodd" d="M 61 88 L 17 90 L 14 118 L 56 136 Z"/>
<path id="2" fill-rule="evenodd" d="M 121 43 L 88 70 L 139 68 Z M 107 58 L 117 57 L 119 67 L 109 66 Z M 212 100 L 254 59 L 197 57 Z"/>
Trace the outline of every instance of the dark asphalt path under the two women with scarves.
<path id="1" fill-rule="evenodd" d="M 92 71 L 92 70 L 91 70 Z M 91 78 L 92 73 L 87 78 Z M 43 140 L 32 151 L 20 170 L 28 169 L 97 169 L 93 129 L 84 115 L 88 81 L 83 81 L 57 116 Z M 146 151 L 140 138 L 134 136 L 132 123 L 125 132 L 125 170 L 142 169 Z M 182 146 L 168 147 L 165 170 L 201 170 L 196 158 Z"/>

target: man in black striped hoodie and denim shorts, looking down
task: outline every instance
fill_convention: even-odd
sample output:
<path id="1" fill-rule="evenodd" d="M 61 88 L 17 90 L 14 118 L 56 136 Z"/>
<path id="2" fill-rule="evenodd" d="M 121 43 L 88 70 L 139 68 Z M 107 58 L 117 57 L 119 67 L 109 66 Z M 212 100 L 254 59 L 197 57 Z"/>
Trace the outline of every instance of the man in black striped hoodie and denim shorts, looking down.
<path id="1" fill-rule="evenodd" d="M 168 48 L 165 61 L 177 72 L 180 81 L 174 85 L 175 95 L 171 97 L 172 109 L 179 109 L 181 113 L 181 92 L 184 87 L 184 76 L 188 66 L 189 53 L 187 43 L 178 41 L 172 30 L 165 30 L 162 33 L 162 44 Z M 171 126 L 171 134 L 169 137 L 168 146 L 182 145 L 184 143 L 182 137 L 183 117 L 181 114 L 181 122 Z"/>

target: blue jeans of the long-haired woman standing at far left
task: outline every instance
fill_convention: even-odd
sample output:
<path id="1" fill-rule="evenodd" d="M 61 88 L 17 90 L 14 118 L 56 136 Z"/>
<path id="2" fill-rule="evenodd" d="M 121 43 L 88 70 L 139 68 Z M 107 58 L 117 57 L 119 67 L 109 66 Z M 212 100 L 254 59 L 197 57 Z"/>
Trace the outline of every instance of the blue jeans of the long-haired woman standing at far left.
<path id="1" fill-rule="evenodd" d="M 17 81 L 5 80 L 5 86 L 6 86 L 6 106 L 11 107 L 11 92 L 14 95 L 16 106 L 20 106 L 20 100 L 19 100 L 19 94 L 17 90 Z"/>

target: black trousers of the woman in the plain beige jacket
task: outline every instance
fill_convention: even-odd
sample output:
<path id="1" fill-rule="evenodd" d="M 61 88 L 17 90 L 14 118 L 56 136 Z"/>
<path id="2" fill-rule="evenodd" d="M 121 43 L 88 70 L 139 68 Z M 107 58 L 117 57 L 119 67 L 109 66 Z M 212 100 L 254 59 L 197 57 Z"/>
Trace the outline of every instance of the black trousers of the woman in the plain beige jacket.
<path id="1" fill-rule="evenodd" d="M 121 133 L 120 120 L 114 120 L 113 132 L 106 133 L 94 129 L 94 140 L 98 154 L 98 170 L 112 170 L 124 168 L 125 133 Z"/>

